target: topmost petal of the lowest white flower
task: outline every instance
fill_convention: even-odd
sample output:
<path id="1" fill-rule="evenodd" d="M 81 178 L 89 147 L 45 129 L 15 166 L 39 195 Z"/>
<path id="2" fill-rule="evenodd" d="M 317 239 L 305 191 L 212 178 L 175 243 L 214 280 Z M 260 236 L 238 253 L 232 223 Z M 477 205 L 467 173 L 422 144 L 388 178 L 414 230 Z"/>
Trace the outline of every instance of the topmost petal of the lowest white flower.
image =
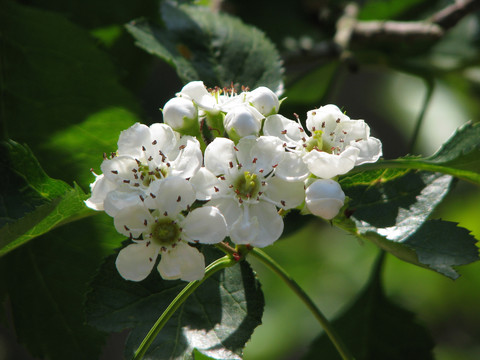
<path id="1" fill-rule="evenodd" d="M 195 201 L 195 191 L 192 185 L 179 176 L 169 176 L 150 185 L 149 191 L 153 196 L 145 199 L 149 209 L 157 209 L 160 213 L 165 211 L 169 217 L 178 215 L 186 210 Z"/>

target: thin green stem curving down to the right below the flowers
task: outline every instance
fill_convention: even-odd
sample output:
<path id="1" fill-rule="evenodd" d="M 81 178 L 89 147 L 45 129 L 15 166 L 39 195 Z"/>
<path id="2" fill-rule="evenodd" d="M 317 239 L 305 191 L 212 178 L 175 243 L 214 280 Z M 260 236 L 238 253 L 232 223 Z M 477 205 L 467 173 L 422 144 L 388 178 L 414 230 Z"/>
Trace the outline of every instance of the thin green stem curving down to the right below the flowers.
<path id="1" fill-rule="evenodd" d="M 293 292 L 302 300 L 307 308 L 313 313 L 315 318 L 318 320 L 320 325 L 325 330 L 325 333 L 328 335 L 333 345 L 337 348 L 338 353 L 342 356 L 344 360 L 353 360 L 354 357 L 350 354 L 350 351 L 347 349 L 343 341 L 340 339 L 335 329 L 332 327 L 327 318 L 322 314 L 322 312 L 317 308 L 313 303 L 312 299 L 303 291 L 300 285 L 297 284 L 295 280 L 280 266 L 278 265 L 270 256 L 265 254 L 263 251 L 253 248 L 249 254 L 255 256 L 258 260 L 264 263 L 269 267 L 275 274 L 277 274 Z"/>

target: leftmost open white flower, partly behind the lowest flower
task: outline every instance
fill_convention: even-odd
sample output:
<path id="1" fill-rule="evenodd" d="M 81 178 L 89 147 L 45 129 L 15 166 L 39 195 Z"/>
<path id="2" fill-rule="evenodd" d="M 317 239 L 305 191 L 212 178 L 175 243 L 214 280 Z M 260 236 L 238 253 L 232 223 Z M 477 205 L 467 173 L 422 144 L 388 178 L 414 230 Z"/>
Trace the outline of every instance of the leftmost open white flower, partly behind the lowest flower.
<path id="1" fill-rule="evenodd" d="M 154 194 L 150 187 L 156 181 L 167 176 L 190 178 L 201 164 L 197 139 L 180 137 L 166 124 L 137 123 L 120 134 L 118 151 L 103 161 L 103 174 L 96 176 L 86 204 L 113 216 L 135 198 Z"/>

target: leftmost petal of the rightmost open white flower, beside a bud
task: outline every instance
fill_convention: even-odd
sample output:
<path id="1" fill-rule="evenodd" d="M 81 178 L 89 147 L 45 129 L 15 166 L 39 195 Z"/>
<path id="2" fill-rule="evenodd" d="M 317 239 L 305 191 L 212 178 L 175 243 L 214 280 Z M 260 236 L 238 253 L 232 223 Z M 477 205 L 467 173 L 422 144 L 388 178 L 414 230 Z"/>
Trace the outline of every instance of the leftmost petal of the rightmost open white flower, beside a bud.
<path id="1" fill-rule="evenodd" d="M 305 136 L 300 130 L 300 125 L 283 115 L 271 115 L 265 119 L 263 134 L 276 136 L 287 144 L 288 147 L 297 147 L 298 143 Z"/>

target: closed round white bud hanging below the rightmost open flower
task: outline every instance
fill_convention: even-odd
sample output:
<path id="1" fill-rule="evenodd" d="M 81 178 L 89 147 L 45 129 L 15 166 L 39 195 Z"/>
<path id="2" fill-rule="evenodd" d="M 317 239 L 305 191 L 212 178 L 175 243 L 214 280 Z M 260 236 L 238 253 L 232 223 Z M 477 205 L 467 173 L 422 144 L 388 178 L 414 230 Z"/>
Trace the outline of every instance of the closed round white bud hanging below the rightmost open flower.
<path id="1" fill-rule="evenodd" d="M 331 179 L 319 179 L 305 191 L 305 203 L 314 215 L 330 220 L 337 216 L 345 202 L 345 193 Z"/>

